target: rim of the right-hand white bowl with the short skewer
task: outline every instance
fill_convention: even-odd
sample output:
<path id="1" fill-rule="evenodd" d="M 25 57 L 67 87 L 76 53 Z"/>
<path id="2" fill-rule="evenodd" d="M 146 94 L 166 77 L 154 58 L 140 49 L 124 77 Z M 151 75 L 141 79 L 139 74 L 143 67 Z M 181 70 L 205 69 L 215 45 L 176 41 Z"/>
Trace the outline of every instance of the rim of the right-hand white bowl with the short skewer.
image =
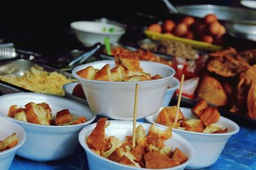
<path id="1" fill-rule="evenodd" d="M 147 121 L 147 122 L 150 122 L 150 124 L 156 124 L 157 126 L 159 127 L 167 127 L 165 125 L 161 125 L 161 124 L 158 124 L 154 121 L 151 121 L 149 120 L 148 118 L 149 117 L 154 117 L 154 115 L 157 115 L 159 114 L 160 110 L 163 110 L 163 108 L 165 107 L 161 107 L 159 108 L 159 110 L 156 112 L 156 113 L 153 113 L 152 115 L 148 116 L 148 117 L 145 117 L 144 119 Z M 189 110 L 191 111 L 191 108 L 183 108 L 183 107 L 180 107 L 180 110 Z M 192 113 L 192 111 L 191 111 Z M 228 119 L 228 118 L 225 118 L 225 117 L 220 117 L 222 120 L 224 120 L 225 122 L 228 122 L 228 124 L 230 124 L 234 129 L 233 131 L 230 131 L 230 132 L 225 132 L 225 133 L 216 133 L 216 134 L 209 134 L 209 133 L 203 133 L 203 132 L 191 132 L 191 131 L 185 131 L 185 130 L 181 130 L 181 129 L 175 129 L 175 128 L 172 128 L 173 131 L 177 131 L 177 132 L 182 132 L 184 134 L 193 134 L 193 135 L 196 135 L 196 136 L 231 136 L 233 134 L 236 134 L 237 132 L 239 132 L 239 125 L 237 125 L 235 122 L 233 122 L 232 120 Z"/>

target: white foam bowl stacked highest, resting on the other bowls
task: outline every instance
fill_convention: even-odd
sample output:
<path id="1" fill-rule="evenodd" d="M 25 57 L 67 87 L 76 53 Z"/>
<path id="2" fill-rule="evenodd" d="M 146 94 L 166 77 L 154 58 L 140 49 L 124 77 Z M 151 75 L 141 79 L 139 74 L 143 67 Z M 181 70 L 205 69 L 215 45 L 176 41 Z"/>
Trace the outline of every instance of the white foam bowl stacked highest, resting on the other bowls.
<path id="1" fill-rule="evenodd" d="M 88 80 L 76 74 L 88 66 L 101 69 L 106 64 L 110 64 L 111 68 L 115 67 L 114 60 L 101 60 L 77 66 L 72 70 L 73 76 L 83 87 L 93 113 L 113 119 L 132 120 L 136 83 L 139 84 L 137 118 L 147 117 L 159 110 L 168 84 L 175 74 L 172 67 L 157 62 L 140 61 L 145 73 L 160 74 L 163 78 L 138 82 Z"/>

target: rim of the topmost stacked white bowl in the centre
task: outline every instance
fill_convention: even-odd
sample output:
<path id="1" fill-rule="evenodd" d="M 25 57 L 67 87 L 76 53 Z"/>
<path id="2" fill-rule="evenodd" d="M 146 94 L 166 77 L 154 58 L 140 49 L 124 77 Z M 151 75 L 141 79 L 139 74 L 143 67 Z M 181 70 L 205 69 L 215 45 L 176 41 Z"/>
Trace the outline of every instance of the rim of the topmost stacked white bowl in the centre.
<path id="1" fill-rule="evenodd" d="M 150 83 L 150 82 L 157 82 L 157 81 L 163 81 L 163 80 L 168 80 L 169 78 L 172 78 L 175 74 L 175 69 L 173 69 L 173 67 L 170 67 L 170 66 L 167 66 L 165 64 L 161 64 L 161 63 L 158 63 L 158 62 L 152 62 L 152 61 L 145 61 L 145 60 L 140 60 L 140 64 L 141 63 L 146 63 L 146 64 L 157 64 L 161 67 L 166 67 L 168 69 L 170 69 L 170 71 L 172 72 L 172 74 L 170 74 L 169 76 L 167 77 L 164 77 L 164 78 L 160 78 L 160 79 L 157 79 L 157 80 L 148 80 L 148 81 L 131 81 L 131 82 L 127 82 L 127 81 L 100 81 L 100 80 L 88 80 L 86 78 L 82 78 L 81 76 L 78 76 L 76 73 L 77 71 L 80 71 L 81 69 L 79 69 L 80 67 L 84 67 L 86 68 L 85 66 L 92 66 L 93 64 L 97 64 L 97 63 L 104 63 L 104 64 L 115 64 L 115 61 L 114 60 L 99 60 L 99 61 L 95 61 L 95 62 L 90 62 L 90 63 L 87 63 L 87 64 L 82 64 L 80 66 L 76 66 L 74 67 L 74 69 L 72 69 L 72 75 L 77 79 L 77 80 L 83 80 L 83 81 L 87 81 L 87 82 L 92 82 L 92 83 L 102 83 L 102 84 L 144 84 L 144 83 Z M 84 69 L 83 68 L 83 69 Z M 78 70 L 79 69 L 79 70 Z"/>

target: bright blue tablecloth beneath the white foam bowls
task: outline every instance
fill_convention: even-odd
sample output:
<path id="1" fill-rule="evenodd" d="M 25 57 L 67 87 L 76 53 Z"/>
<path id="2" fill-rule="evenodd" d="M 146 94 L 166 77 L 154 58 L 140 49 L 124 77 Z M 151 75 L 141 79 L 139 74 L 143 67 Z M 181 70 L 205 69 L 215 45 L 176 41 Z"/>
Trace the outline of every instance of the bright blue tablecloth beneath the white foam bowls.
<path id="1" fill-rule="evenodd" d="M 211 153 L 209 153 L 211 154 Z M 0 168 L 1 169 L 1 168 Z M 81 146 L 77 152 L 62 160 L 53 162 L 32 162 L 16 156 L 10 170 L 46 170 L 46 169 L 88 169 L 86 154 Z M 220 158 L 211 167 L 204 169 L 256 169 L 256 130 L 240 127 L 240 131 L 233 135 L 225 146 Z"/>

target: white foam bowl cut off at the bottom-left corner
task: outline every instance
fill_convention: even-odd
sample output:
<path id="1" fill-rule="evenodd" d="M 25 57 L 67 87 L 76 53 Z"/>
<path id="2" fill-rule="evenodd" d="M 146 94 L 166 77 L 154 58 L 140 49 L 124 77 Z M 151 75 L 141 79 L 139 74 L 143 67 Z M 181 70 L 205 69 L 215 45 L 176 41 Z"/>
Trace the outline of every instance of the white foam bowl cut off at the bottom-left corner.
<path id="1" fill-rule="evenodd" d="M 0 140 L 11 136 L 13 133 L 16 133 L 19 142 L 13 148 L 0 152 L 0 169 L 8 170 L 12 164 L 13 158 L 17 150 L 22 146 L 26 141 L 26 132 L 20 125 L 7 120 L 6 118 L 0 117 Z"/>

